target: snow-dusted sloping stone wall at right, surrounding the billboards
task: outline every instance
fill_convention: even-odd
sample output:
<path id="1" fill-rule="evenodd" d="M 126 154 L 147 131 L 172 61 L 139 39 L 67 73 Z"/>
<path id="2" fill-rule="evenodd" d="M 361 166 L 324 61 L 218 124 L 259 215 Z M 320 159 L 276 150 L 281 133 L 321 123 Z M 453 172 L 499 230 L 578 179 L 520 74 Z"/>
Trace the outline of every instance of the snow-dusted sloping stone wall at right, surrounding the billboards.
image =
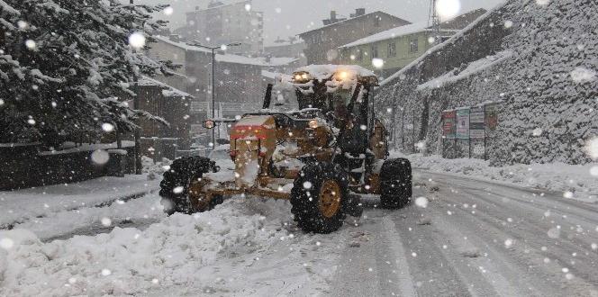
<path id="1" fill-rule="evenodd" d="M 503 101 L 494 163 L 587 163 L 585 143 L 598 137 L 597 19 L 593 0 L 507 1 L 383 82 L 380 108 L 403 108 L 394 114 L 405 150 L 425 141 L 440 153 L 442 110 Z"/>

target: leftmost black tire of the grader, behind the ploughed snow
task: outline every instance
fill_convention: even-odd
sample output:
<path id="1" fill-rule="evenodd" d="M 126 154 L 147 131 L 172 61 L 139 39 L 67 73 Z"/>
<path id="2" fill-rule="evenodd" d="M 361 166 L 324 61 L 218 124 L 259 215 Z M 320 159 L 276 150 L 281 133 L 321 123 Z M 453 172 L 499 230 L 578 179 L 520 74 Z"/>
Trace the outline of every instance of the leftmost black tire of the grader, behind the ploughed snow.
<path id="1" fill-rule="evenodd" d="M 168 215 L 175 212 L 193 213 L 209 211 L 216 204 L 222 203 L 222 196 L 215 196 L 204 209 L 195 209 L 189 202 L 189 190 L 192 182 L 202 178 L 205 173 L 215 169 L 215 164 L 207 157 L 182 157 L 175 160 L 164 173 L 160 183 L 159 195 L 162 197 L 164 211 Z"/>

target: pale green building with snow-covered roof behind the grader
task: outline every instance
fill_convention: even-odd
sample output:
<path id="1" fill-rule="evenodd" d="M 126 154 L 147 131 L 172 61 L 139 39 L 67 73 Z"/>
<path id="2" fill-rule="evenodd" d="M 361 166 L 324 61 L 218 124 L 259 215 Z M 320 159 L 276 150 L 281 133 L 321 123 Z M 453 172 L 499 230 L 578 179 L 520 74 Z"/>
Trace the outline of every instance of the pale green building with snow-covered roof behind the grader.
<path id="1" fill-rule="evenodd" d="M 442 40 L 449 39 L 457 31 L 467 27 L 478 17 L 485 14 L 485 9 L 476 9 L 444 23 L 440 23 Z M 432 38 L 430 40 L 430 37 Z M 431 41 L 431 42 L 430 42 Z M 436 43 L 433 40 L 429 23 L 412 23 L 382 31 L 372 36 L 345 44 L 339 48 L 343 64 L 356 64 L 379 72 L 387 77 L 409 65 Z M 373 64 L 373 59 L 379 58 Z"/>

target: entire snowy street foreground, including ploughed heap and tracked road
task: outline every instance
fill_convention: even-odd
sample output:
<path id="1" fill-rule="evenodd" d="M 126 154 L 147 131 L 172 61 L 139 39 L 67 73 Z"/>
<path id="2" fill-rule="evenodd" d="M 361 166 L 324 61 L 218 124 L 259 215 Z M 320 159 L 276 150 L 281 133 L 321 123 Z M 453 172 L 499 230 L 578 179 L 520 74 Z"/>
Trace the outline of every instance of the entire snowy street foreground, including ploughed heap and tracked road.
<path id="1" fill-rule="evenodd" d="M 328 235 L 304 234 L 288 202 L 261 199 L 50 242 L 0 231 L 11 238 L 0 295 L 598 296 L 597 204 L 468 176 L 414 178 L 412 205 L 387 211 L 368 198 L 357 225 Z M 95 217 L 148 213 L 157 199 Z"/>

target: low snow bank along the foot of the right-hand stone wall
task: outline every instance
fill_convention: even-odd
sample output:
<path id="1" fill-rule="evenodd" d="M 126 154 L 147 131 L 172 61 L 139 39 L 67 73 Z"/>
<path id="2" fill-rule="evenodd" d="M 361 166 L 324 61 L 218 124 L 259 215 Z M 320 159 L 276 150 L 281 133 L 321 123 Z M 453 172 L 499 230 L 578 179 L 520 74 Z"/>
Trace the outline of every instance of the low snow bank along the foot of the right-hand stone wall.
<path id="1" fill-rule="evenodd" d="M 394 155 L 400 155 L 395 153 Z M 598 174 L 593 175 L 598 164 L 567 165 L 531 164 L 512 166 L 490 166 L 489 161 L 470 158 L 446 159 L 421 154 L 407 156 L 413 167 L 432 172 L 469 175 L 486 180 L 503 181 L 521 186 L 563 193 L 568 199 L 583 202 L 598 202 Z"/>

